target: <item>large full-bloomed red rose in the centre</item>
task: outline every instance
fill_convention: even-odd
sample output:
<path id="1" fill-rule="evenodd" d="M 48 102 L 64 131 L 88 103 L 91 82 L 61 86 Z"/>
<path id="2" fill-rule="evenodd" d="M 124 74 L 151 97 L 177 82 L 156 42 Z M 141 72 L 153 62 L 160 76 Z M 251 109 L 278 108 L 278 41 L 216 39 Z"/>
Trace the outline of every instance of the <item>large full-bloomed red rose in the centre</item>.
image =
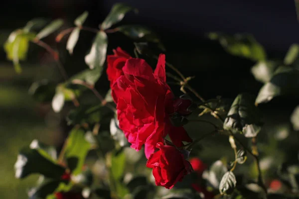
<path id="1" fill-rule="evenodd" d="M 124 75 L 112 87 L 112 97 L 117 104 L 119 126 L 131 147 L 140 150 L 145 144 L 147 158 L 154 152 L 156 143 L 163 142 L 169 134 L 173 144 L 192 139 L 182 126 L 170 123 L 174 112 L 174 96 L 166 84 L 165 55 L 160 55 L 155 71 L 143 59 L 128 59 Z"/>

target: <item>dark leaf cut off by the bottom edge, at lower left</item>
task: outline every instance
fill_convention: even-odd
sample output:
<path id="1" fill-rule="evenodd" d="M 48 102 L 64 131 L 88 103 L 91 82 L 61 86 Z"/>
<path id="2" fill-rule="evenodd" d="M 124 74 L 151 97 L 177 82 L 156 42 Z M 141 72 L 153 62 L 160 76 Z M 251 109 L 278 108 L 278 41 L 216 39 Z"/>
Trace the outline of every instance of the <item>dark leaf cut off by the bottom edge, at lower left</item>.
<path id="1" fill-rule="evenodd" d="M 61 181 L 58 180 L 47 180 L 38 187 L 32 188 L 28 191 L 29 199 L 46 199 L 46 197 L 52 194 Z"/>

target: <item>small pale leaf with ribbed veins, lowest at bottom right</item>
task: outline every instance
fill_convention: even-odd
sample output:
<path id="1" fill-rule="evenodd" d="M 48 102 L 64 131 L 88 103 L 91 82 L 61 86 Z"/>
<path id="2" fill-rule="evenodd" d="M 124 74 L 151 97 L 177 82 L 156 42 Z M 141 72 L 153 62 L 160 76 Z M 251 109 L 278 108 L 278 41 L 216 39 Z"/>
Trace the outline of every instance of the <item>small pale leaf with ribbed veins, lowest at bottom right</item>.
<path id="1" fill-rule="evenodd" d="M 219 185 L 220 194 L 221 195 L 232 194 L 236 187 L 236 184 L 237 181 L 234 173 L 231 171 L 226 172 L 220 181 L 220 185 Z"/>

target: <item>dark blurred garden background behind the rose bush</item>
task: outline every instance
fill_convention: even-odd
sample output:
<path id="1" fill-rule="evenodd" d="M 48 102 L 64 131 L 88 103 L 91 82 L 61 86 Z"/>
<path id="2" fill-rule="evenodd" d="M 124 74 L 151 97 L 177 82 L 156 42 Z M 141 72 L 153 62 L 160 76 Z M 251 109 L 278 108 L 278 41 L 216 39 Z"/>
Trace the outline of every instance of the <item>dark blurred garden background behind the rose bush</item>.
<path id="1" fill-rule="evenodd" d="M 121 24 L 142 24 L 154 30 L 166 47 L 166 60 L 186 76 L 195 76 L 190 85 L 205 99 L 216 96 L 234 99 L 241 92 L 257 95 L 262 87 L 250 73 L 254 62 L 229 55 L 218 42 L 206 37 L 207 32 L 251 33 L 271 59 L 283 59 L 290 45 L 299 42 L 293 0 L 9 0 L 2 2 L 0 7 L 0 44 L 3 45 L 11 31 L 35 17 L 62 18 L 65 21 L 63 28 L 67 28 L 73 26 L 74 18 L 88 10 L 86 26 L 97 27 L 116 2 L 126 2 L 138 8 L 138 15 L 127 14 Z M 65 50 L 66 39 L 57 44 L 54 34 L 44 41 L 59 50 L 62 64 L 71 76 L 87 67 L 84 56 L 93 36 L 93 33 L 82 31 L 73 56 Z M 132 40 L 121 33 L 110 34 L 107 54 L 112 54 L 112 49 L 117 46 L 134 55 Z M 35 180 L 34 177 L 22 181 L 14 178 L 13 164 L 19 148 L 34 138 L 60 147 L 68 131 L 66 122 L 61 119 L 63 113 L 54 114 L 50 104 L 37 104 L 28 95 L 30 85 L 36 80 L 61 80 L 52 58 L 40 47 L 30 44 L 28 61 L 22 63 L 22 67 L 23 73 L 17 75 L 1 48 L 0 198 L 3 199 L 27 198 L 26 189 Z M 97 89 L 105 93 L 108 88 L 104 75 Z M 176 94 L 180 95 L 179 92 Z M 281 162 L 297 160 L 298 136 L 290 129 L 290 115 L 298 100 L 281 97 L 261 105 L 265 127 L 259 140 L 268 163 L 269 154 L 275 154 Z M 198 126 L 186 128 L 194 136 L 202 133 L 199 131 L 209 130 L 205 125 L 200 129 Z M 200 153 L 207 164 L 222 157 L 213 151 L 215 145 L 231 150 L 225 137 L 207 139 L 202 148 L 208 152 Z M 281 154 L 279 149 L 284 149 L 285 153 Z"/>

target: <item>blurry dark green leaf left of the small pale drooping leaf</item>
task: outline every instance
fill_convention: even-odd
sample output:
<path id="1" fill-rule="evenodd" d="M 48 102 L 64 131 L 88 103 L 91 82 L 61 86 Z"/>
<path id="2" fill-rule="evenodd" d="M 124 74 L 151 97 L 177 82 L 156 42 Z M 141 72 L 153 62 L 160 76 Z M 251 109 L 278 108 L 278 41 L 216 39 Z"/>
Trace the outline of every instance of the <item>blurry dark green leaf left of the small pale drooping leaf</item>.
<path id="1" fill-rule="evenodd" d="M 50 102 L 55 95 L 56 85 L 48 80 L 34 82 L 29 88 L 29 95 L 39 102 Z"/>

